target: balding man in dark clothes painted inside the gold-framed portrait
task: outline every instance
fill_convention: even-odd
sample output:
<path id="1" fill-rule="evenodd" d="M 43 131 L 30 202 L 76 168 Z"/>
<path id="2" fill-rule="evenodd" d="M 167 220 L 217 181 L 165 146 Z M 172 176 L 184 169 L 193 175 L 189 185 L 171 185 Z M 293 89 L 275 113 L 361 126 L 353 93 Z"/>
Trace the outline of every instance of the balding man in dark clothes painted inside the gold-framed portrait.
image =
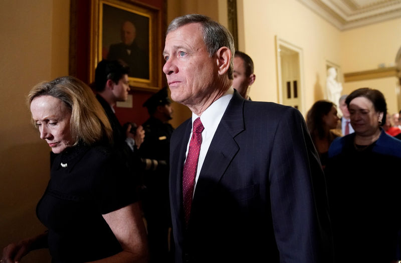
<path id="1" fill-rule="evenodd" d="M 108 60 L 122 60 L 129 66 L 130 77 L 149 79 L 149 56 L 135 42 L 136 28 L 130 21 L 121 25 L 121 43 L 110 45 Z"/>

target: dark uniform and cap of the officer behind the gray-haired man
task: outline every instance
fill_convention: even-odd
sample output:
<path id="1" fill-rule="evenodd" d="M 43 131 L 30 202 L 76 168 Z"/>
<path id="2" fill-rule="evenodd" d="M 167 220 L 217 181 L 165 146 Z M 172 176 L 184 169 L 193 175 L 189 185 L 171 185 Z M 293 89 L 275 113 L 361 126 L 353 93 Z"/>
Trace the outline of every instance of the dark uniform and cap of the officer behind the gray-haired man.
<path id="1" fill-rule="evenodd" d="M 161 89 L 144 104 L 149 113 L 159 105 L 170 104 L 167 90 Z M 173 127 L 155 117 L 143 123 L 145 140 L 141 144 L 142 159 L 146 159 L 143 176 L 142 207 L 147 222 L 150 262 L 169 262 L 168 242 L 171 215 L 168 192 L 169 149 Z M 172 234 L 171 234 L 172 238 Z"/>

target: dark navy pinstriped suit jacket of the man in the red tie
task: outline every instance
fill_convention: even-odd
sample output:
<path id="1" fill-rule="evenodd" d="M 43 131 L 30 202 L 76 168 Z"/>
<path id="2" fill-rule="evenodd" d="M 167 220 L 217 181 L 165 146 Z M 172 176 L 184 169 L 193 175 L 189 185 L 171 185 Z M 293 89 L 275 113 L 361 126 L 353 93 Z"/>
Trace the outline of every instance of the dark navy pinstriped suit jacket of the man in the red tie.
<path id="1" fill-rule="evenodd" d="M 170 147 L 175 262 L 330 262 L 325 180 L 298 110 L 234 93 L 196 184 L 188 228 L 187 120 Z"/>

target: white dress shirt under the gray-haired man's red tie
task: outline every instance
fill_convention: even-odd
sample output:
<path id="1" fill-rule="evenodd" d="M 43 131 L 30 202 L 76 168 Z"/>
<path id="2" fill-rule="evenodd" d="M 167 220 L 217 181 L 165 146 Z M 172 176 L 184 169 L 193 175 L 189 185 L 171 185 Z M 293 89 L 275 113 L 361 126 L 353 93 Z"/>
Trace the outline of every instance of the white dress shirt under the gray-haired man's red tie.
<path id="1" fill-rule="evenodd" d="M 200 152 L 199 152 L 199 160 L 197 162 L 197 169 L 196 169 L 196 177 L 195 177 L 195 185 L 196 188 L 197 179 L 199 177 L 200 170 L 202 170 L 202 165 L 205 161 L 206 154 L 208 153 L 209 146 L 212 142 L 213 137 L 215 136 L 217 127 L 219 126 L 220 121 L 224 115 L 224 112 L 227 109 L 227 106 L 230 103 L 231 98 L 233 97 L 234 89 L 230 88 L 228 91 L 220 97 L 217 101 L 212 103 L 200 116 L 200 122 L 202 122 L 204 126 L 204 131 L 202 132 L 202 144 L 200 145 Z M 196 114 L 192 113 L 192 125 L 193 122 L 198 118 Z M 189 136 L 188 144 L 186 146 L 186 153 L 185 156 L 188 154 L 190 138 L 192 137 L 192 131 Z M 186 158 L 186 157 L 185 157 Z M 193 190 L 195 193 L 195 190 Z"/>

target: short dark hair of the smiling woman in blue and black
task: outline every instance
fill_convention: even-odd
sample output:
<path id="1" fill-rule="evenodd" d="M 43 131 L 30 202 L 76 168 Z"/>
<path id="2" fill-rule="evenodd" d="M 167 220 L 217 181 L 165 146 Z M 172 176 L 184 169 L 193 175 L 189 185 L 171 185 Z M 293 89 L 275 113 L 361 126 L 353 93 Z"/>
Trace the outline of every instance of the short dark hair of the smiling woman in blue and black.
<path id="1" fill-rule="evenodd" d="M 383 118 L 381 119 L 381 124 L 380 124 L 380 126 L 383 126 L 387 115 L 387 104 L 385 103 L 385 98 L 383 93 L 371 88 L 360 88 L 354 90 L 345 99 L 345 104 L 347 104 L 348 109 L 349 109 L 349 103 L 357 97 L 365 97 L 366 99 L 372 102 L 374 110 L 376 112 L 383 113 Z"/>

